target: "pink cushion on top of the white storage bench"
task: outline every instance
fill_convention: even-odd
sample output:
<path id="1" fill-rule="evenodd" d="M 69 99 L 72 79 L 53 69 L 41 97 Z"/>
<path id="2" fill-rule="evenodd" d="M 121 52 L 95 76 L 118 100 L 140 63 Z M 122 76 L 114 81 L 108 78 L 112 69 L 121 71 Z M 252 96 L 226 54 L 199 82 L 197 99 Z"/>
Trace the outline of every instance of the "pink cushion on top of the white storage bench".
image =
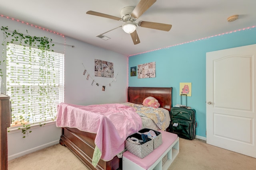
<path id="1" fill-rule="evenodd" d="M 178 135 L 174 133 L 170 133 L 162 130 L 159 130 L 159 131 L 162 133 L 163 143 L 158 148 L 156 148 L 153 152 L 151 152 L 148 156 L 141 159 L 129 151 L 124 152 L 123 156 L 147 170 L 172 145 L 172 143 L 174 143 L 174 141 L 178 137 Z"/>

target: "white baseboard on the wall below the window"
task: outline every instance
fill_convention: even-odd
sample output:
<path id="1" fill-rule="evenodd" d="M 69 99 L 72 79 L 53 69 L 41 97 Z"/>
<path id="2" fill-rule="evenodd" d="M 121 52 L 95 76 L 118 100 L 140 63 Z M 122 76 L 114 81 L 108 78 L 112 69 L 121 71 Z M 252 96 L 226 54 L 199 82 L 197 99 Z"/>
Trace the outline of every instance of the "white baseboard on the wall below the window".
<path id="1" fill-rule="evenodd" d="M 20 156 L 24 156 L 26 154 L 29 154 L 29 153 L 32 153 L 32 152 L 35 152 L 37 150 L 40 150 L 40 149 L 44 149 L 44 148 L 47 148 L 47 147 L 50 147 L 52 145 L 56 145 L 59 143 L 60 140 L 56 140 L 56 141 L 52 141 L 50 143 L 46 143 L 44 145 L 40 145 L 38 147 L 34 147 L 32 149 L 28 149 L 28 150 L 24 150 L 22 152 L 19 152 L 19 153 L 16 153 L 16 154 L 12 154 L 12 155 L 8 155 L 8 160 L 12 160 L 12 159 L 15 159 L 15 158 L 18 158 Z"/>

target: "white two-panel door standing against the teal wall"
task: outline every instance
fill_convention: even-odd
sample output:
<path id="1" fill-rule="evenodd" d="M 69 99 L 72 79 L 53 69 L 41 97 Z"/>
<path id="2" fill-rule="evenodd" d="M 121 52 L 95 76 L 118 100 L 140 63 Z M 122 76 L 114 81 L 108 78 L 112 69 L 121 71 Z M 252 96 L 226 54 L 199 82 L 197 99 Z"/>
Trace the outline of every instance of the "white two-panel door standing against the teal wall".
<path id="1" fill-rule="evenodd" d="M 206 143 L 256 158 L 256 44 L 206 53 Z"/>

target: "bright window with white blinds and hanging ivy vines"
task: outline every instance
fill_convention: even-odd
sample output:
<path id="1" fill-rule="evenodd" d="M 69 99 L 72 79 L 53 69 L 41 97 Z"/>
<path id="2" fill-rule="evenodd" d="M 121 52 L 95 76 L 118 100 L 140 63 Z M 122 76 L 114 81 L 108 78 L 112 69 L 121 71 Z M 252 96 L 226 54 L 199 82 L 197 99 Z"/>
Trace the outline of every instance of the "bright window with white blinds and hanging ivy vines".
<path id="1" fill-rule="evenodd" d="M 64 101 L 64 54 L 8 43 L 6 93 L 11 127 L 54 120 Z"/>

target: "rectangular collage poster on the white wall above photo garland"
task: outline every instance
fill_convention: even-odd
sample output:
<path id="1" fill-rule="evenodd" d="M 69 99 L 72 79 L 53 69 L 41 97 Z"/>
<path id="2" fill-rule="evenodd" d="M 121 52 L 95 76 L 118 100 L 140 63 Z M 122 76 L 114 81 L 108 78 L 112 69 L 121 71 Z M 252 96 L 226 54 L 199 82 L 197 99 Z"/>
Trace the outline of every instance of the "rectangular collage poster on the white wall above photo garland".
<path id="1" fill-rule="evenodd" d="M 114 64 L 108 61 L 94 59 L 95 70 L 94 76 L 97 77 L 114 77 Z"/>

